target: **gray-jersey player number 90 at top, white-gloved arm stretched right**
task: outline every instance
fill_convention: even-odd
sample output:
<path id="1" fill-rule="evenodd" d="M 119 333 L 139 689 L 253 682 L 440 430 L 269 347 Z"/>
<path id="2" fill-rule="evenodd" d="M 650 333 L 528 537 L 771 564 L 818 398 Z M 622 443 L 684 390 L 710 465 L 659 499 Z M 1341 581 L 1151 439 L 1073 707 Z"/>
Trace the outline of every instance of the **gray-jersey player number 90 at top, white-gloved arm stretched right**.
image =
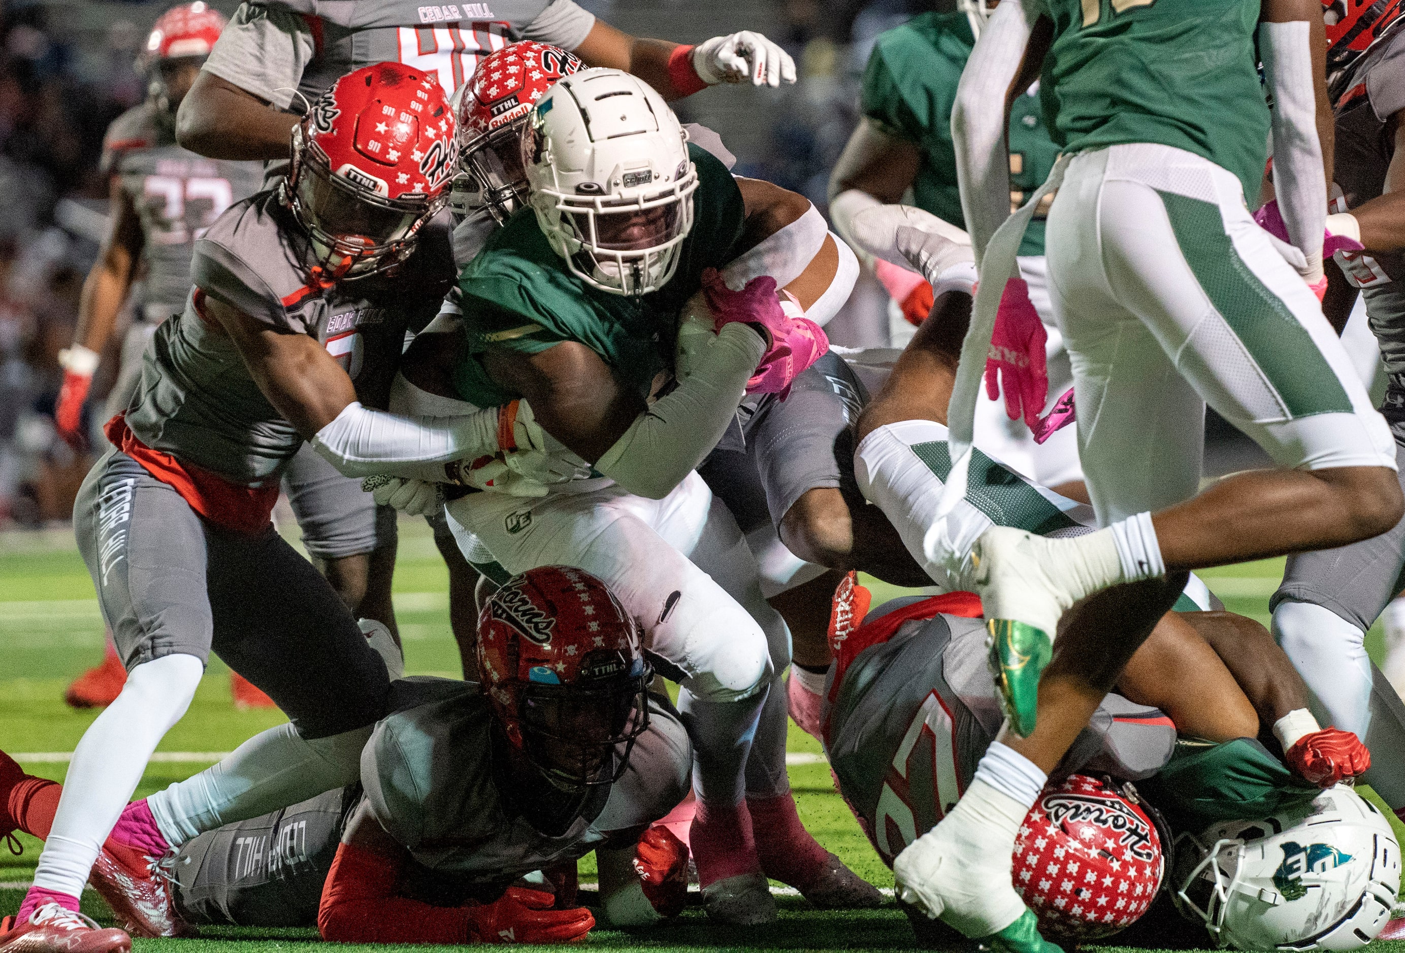
<path id="1" fill-rule="evenodd" d="M 287 112 L 295 94 L 311 102 L 343 73 L 389 60 L 434 76 L 448 95 L 473 74 L 479 58 L 518 39 L 570 51 L 587 66 L 634 73 L 670 100 L 717 83 L 795 81 L 790 55 L 757 32 L 695 46 L 639 39 L 575 0 L 256 0 L 235 13 L 180 112 L 177 135 L 205 156 L 282 160 L 298 121 Z"/>

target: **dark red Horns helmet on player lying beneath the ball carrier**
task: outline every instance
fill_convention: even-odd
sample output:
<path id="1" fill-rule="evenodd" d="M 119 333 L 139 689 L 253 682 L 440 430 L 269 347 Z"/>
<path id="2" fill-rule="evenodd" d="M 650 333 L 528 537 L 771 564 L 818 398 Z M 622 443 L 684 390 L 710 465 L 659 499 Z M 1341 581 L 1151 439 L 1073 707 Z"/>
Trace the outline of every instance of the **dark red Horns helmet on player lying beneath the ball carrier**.
<path id="1" fill-rule="evenodd" d="M 483 604 L 476 651 L 507 740 L 549 780 L 579 789 L 624 773 L 649 727 L 653 669 L 604 582 L 569 566 L 514 575 Z"/>

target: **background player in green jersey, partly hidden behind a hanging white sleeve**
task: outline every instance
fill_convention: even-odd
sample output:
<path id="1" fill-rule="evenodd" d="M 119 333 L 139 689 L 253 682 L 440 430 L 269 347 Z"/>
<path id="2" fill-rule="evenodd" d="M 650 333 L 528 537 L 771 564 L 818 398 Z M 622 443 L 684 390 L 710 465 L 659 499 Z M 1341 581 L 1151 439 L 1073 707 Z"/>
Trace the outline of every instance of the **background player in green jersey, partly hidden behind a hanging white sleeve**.
<path id="1" fill-rule="evenodd" d="M 957 229 L 965 227 L 961 194 L 957 188 L 955 149 L 951 140 L 951 107 L 961 69 L 975 38 L 981 35 L 989 10 L 996 4 L 961 0 L 951 13 L 919 14 L 884 34 L 868 55 L 860 93 L 863 116 L 829 180 L 829 212 L 836 230 L 856 248 L 856 215 L 880 202 L 901 202 L 912 189 L 912 202 Z M 1044 128 L 1038 87 L 1014 97 L 1010 107 L 1010 204 L 1019 208 L 1054 168 L 1058 146 Z M 1073 372 L 1062 337 L 1054 324 L 1044 267 L 1044 213 L 1035 212 L 1020 243 L 1020 276 L 1028 285 L 1045 334 L 1047 397 L 1043 414 L 1073 383 Z M 903 316 L 920 323 L 932 306 L 932 286 L 922 275 L 884 258 L 868 258 L 874 274 L 901 305 Z M 1055 491 L 1083 502 L 1087 497 L 1078 462 L 1078 441 L 1072 429 L 1061 429 L 1044 442 L 1006 413 L 1003 401 L 981 396 L 976 404 L 976 432 L 981 446 L 1007 466 Z"/>

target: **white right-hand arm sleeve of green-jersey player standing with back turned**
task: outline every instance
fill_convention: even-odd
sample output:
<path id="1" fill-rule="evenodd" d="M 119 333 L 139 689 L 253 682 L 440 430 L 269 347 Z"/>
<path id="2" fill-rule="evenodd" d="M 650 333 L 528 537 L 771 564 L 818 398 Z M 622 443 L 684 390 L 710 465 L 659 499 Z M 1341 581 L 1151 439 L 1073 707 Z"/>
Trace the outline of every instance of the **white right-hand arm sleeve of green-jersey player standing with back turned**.
<path id="1" fill-rule="evenodd" d="M 1305 20 L 1259 24 L 1259 53 L 1273 91 L 1273 187 L 1291 241 L 1307 258 L 1308 282 L 1322 278 L 1326 173 L 1316 138 L 1316 95 Z"/>

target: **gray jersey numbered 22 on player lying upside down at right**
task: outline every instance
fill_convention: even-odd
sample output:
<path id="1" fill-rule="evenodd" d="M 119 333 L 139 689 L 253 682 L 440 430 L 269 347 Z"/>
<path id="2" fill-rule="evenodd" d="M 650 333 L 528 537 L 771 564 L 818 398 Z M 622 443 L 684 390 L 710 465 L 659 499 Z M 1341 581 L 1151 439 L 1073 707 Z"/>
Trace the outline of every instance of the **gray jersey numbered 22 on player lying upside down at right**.
<path id="1" fill-rule="evenodd" d="M 865 623 L 919 601 L 888 602 Z M 823 713 L 829 764 L 874 849 L 892 866 L 957 803 L 1000 730 L 985 622 L 950 615 L 906 620 L 891 639 L 860 651 L 837 695 L 832 689 Z M 1137 780 L 1161 769 L 1175 742 L 1176 727 L 1158 709 L 1109 695 L 1055 775 L 1107 772 Z"/>

